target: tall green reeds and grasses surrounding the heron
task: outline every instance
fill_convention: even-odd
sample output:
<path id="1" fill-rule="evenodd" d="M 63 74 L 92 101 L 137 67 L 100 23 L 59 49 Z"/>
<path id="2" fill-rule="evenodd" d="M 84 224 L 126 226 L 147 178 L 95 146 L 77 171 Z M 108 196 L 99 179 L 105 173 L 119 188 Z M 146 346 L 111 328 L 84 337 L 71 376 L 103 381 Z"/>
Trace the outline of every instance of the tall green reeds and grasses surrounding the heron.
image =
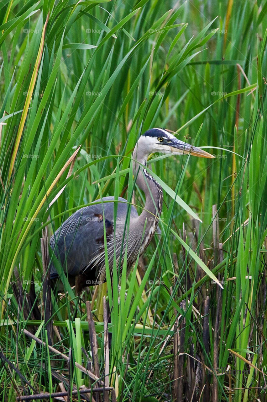
<path id="1" fill-rule="evenodd" d="M 105 382 L 105 401 L 266 400 L 266 27 L 261 0 L 0 3 L 2 401 L 62 382 L 67 392 Z M 66 361 L 47 346 L 42 230 L 99 197 L 131 200 L 131 150 L 150 127 L 217 158 L 152 160 L 166 183 L 160 231 L 127 281 L 124 270 L 119 287 L 107 280 L 110 350 L 105 287 L 78 297 L 65 281 L 67 295 L 52 295 Z M 92 299 L 102 383 L 75 367 L 96 373 Z"/>

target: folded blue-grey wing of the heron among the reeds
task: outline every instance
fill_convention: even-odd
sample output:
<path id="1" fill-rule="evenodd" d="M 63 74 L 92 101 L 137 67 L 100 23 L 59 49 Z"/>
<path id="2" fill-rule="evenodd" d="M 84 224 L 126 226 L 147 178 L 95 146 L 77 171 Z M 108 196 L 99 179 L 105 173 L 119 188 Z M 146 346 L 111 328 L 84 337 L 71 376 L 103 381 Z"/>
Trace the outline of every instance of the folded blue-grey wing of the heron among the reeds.
<path id="1" fill-rule="evenodd" d="M 113 238 L 114 197 L 103 197 L 103 202 L 97 200 L 93 205 L 83 207 L 73 213 L 51 237 L 50 246 L 59 259 L 63 270 L 71 276 L 83 273 L 90 267 L 90 261 L 104 248 L 104 219 L 107 241 Z M 126 218 L 127 201 L 119 197 L 117 218 Z M 138 217 L 134 206 L 130 214 Z M 90 269 L 90 268 L 89 268 Z M 93 273 L 92 273 L 93 274 Z M 53 264 L 50 266 L 51 279 L 58 276 Z M 93 275 L 96 277 L 97 275 Z"/>

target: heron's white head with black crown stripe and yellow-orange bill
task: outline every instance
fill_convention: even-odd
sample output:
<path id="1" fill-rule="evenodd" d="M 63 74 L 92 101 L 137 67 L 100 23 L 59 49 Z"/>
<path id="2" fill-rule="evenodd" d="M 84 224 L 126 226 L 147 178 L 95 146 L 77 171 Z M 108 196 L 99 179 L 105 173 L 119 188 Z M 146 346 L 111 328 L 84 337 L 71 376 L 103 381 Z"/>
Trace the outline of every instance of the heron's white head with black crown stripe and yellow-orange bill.
<path id="1" fill-rule="evenodd" d="M 142 145 L 148 150 L 148 154 L 161 152 L 162 154 L 170 155 L 191 154 L 202 158 L 215 158 L 215 156 L 200 148 L 180 141 L 180 139 L 162 128 L 149 129 L 140 139 Z"/>

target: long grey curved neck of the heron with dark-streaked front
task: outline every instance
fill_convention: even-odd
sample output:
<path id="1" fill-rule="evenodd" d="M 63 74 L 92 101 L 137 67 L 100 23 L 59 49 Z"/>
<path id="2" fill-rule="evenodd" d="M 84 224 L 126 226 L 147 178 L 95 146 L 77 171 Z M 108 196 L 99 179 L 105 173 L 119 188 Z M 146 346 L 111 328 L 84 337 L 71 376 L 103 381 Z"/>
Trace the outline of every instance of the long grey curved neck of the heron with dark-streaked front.
<path id="1" fill-rule="evenodd" d="M 158 218 L 162 211 L 163 194 L 160 185 L 151 174 L 147 172 L 146 168 L 142 166 L 146 166 L 149 154 L 140 148 L 141 147 L 138 148 L 137 142 L 133 152 L 133 171 L 134 175 L 137 175 L 136 184 L 142 191 L 144 191 L 146 196 L 145 207 L 138 218 L 138 223 L 141 223 L 144 227 L 146 222 L 144 242 L 147 241 L 147 245 L 158 226 Z"/>

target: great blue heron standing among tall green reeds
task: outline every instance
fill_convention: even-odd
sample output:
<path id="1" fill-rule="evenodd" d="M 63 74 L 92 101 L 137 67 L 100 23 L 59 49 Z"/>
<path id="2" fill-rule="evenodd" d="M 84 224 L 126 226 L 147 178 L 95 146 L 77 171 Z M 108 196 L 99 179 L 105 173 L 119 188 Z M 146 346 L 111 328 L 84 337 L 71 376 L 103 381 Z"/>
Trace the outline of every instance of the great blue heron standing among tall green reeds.
<path id="1" fill-rule="evenodd" d="M 164 129 L 152 128 L 141 135 L 132 156 L 133 173 L 136 176 L 136 185 L 144 191 L 146 203 L 140 215 L 131 205 L 129 228 L 125 231 L 128 203 L 119 197 L 114 235 L 114 197 L 103 197 L 102 200 L 97 200 L 73 213 L 51 237 L 50 246 L 63 270 L 67 272 L 69 282 L 72 285 L 75 283 L 78 292 L 85 286 L 95 284 L 97 278 L 102 280 L 105 278 L 104 222 L 111 271 L 114 249 L 117 265 L 119 261 L 122 265 L 127 242 L 128 272 L 138 254 L 142 255 L 151 242 L 162 211 L 163 194 L 160 185 L 142 165 L 146 166 L 148 156 L 155 152 L 214 158 L 208 152 L 180 141 Z M 50 277 L 51 279 L 58 277 L 53 263 L 50 267 Z"/>

